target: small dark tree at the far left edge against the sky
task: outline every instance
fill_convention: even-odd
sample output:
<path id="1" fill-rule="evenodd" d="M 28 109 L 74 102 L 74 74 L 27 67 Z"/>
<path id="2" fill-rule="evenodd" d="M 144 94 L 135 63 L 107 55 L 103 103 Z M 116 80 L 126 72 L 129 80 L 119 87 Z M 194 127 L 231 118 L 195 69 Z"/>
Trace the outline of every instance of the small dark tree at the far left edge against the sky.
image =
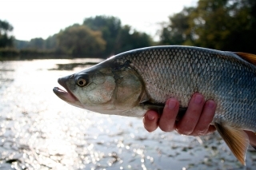
<path id="1" fill-rule="evenodd" d="M 14 37 L 8 35 L 12 30 L 14 27 L 9 22 L 0 20 L 0 48 L 14 45 Z"/>

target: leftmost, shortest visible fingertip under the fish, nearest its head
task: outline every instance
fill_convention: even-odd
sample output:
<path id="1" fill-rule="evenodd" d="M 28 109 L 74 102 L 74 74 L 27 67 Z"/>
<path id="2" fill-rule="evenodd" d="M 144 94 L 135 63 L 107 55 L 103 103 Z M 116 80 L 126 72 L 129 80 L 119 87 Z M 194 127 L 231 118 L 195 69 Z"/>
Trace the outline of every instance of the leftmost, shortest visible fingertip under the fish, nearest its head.
<path id="1" fill-rule="evenodd" d="M 158 113 L 153 110 L 147 111 L 143 118 L 143 123 L 144 128 L 146 128 L 148 132 L 153 132 L 158 128 Z"/>

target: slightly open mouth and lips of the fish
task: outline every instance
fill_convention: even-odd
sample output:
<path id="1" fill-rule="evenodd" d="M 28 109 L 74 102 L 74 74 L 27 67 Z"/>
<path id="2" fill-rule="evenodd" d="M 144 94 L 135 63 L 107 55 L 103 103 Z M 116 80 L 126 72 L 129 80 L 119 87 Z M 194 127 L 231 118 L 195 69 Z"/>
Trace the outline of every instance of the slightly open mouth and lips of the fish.
<path id="1" fill-rule="evenodd" d="M 65 78 L 65 77 L 63 77 Z M 66 86 L 65 81 L 63 81 L 63 78 L 58 78 L 58 84 L 62 85 L 64 89 L 60 89 L 58 87 L 54 87 L 54 93 L 61 98 L 63 101 L 66 101 L 68 103 L 70 103 L 71 105 L 75 105 L 76 103 L 78 103 L 78 98 L 74 96 L 73 93 L 70 92 L 70 90 L 68 89 L 68 87 Z"/>

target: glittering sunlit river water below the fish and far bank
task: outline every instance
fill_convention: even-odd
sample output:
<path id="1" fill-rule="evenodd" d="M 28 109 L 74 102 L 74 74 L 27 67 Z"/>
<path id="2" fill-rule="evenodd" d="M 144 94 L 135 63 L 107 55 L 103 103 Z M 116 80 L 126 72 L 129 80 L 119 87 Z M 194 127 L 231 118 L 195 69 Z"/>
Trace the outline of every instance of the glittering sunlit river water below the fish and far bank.
<path id="1" fill-rule="evenodd" d="M 100 60 L 0 61 L 0 169 L 255 169 L 223 140 L 146 132 L 142 119 L 75 108 L 52 92 L 58 77 Z"/>

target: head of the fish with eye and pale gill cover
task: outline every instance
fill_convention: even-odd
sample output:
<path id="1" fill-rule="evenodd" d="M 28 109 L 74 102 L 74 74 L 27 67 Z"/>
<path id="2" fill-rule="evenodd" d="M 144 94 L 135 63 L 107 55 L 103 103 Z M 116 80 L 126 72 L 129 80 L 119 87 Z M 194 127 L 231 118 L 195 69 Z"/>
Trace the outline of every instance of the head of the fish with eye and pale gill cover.
<path id="1" fill-rule="evenodd" d="M 54 93 L 63 101 L 97 113 L 136 117 L 126 115 L 127 110 L 136 107 L 145 96 L 138 73 L 128 65 L 117 66 L 110 61 L 61 77 L 58 83 L 66 91 L 54 88 Z"/>

